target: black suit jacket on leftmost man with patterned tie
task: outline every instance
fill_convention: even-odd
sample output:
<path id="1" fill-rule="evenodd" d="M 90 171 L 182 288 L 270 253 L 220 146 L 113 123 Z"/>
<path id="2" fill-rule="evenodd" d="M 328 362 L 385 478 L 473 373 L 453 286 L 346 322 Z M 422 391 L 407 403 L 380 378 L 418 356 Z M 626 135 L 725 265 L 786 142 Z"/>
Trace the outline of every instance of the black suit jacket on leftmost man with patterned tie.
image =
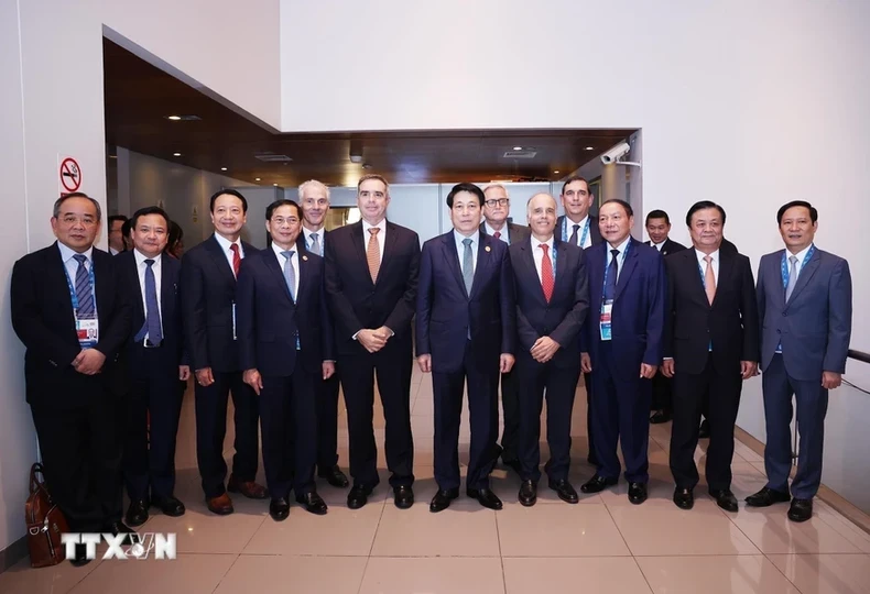
<path id="1" fill-rule="evenodd" d="M 120 353 L 130 332 L 130 302 L 113 257 L 94 248 L 91 264 L 99 319 L 96 349 L 106 355 L 106 363 L 99 374 L 78 373 L 72 363 L 81 348 L 61 257 L 55 242 L 15 262 L 11 309 L 12 327 L 26 348 L 28 403 L 64 409 L 86 406 L 95 388 L 123 393 L 126 370 Z"/>

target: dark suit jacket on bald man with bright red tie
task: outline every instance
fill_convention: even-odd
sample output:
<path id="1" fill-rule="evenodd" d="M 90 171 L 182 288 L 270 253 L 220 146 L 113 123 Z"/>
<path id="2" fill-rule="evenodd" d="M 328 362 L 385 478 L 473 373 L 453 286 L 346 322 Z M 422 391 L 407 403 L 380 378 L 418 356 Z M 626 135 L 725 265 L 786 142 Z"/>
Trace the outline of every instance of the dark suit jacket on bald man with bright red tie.
<path id="1" fill-rule="evenodd" d="M 516 294 L 518 353 L 529 353 L 541 337 L 550 337 L 561 349 L 553 356 L 558 367 L 579 365 L 578 334 L 589 309 L 589 287 L 584 251 L 554 241 L 556 284 L 550 302 L 544 297 L 532 255 L 532 240 L 512 243 L 509 253 Z"/>

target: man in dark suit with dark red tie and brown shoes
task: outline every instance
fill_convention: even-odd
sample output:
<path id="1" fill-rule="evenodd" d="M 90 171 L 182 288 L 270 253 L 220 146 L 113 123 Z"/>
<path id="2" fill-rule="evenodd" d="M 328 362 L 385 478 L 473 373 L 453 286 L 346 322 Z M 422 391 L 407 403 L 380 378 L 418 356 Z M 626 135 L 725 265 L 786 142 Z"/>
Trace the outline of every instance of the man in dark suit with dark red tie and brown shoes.
<path id="1" fill-rule="evenodd" d="M 254 254 L 241 241 L 248 201 L 232 189 L 217 191 L 210 199 L 215 234 L 185 252 L 182 258 L 182 312 L 184 333 L 196 371 L 196 458 L 208 509 L 232 514 L 230 493 L 252 499 L 269 496 L 254 482 L 259 450 L 259 413 L 253 391 L 242 380 L 236 316 L 236 277 L 241 261 Z M 236 408 L 236 455 L 232 474 L 224 486 L 227 463 L 227 398 Z"/>

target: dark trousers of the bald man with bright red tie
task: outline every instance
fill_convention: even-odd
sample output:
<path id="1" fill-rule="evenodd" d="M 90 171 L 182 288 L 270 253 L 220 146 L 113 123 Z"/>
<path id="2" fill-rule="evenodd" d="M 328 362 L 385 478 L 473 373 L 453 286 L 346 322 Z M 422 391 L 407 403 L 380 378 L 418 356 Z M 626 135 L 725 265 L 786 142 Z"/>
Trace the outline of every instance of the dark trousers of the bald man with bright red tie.
<path id="1" fill-rule="evenodd" d="M 576 365 L 556 367 L 553 361 L 541 364 L 528 353 L 518 355 L 520 381 L 520 464 L 523 481 L 541 480 L 541 410 L 546 393 L 547 476 L 554 481 L 568 477 L 570 464 L 570 415 L 574 393 L 580 377 L 579 358 Z"/>

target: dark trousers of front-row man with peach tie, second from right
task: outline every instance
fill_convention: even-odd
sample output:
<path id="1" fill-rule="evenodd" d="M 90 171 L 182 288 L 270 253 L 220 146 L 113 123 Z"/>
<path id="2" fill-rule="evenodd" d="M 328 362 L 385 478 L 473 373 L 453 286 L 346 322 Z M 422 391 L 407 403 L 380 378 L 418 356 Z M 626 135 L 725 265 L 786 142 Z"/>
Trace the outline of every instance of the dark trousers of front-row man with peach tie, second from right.
<path id="1" fill-rule="evenodd" d="M 707 420 L 710 443 L 707 447 L 707 484 L 710 490 L 731 487 L 731 459 L 735 454 L 735 422 L 740 407 L 743 381 L 740 366 L 721 373 L 711 355 L 702 373 L 681 373 L 676 362 L 674 374 L 674 424 L 671 429 L 671 472 L 678 488 L 694 488 L 698 483 L 695 447 L 705 399 L 709 399 Z"/>

